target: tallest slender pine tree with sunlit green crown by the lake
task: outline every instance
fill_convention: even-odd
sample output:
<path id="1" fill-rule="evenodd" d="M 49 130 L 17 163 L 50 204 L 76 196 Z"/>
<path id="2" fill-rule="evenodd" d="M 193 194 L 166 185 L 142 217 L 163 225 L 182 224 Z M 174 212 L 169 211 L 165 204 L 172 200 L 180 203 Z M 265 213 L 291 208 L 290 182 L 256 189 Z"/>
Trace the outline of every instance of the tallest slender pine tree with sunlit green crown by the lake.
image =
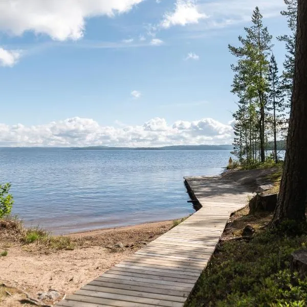
<path id="1" fill-rule="evenodd" d="M 260 159 L 265 162 L 265 106 L 266 93 L 268 92 L 269 61 L 271 52 L 272 35 L 269 34 L 267 27 L 262 24 L 262 15 L 256 7 L 252 15 L 253 25 L 245 28 L 246 38 L 239 36 L 241 47 L 228 46 L 230 52 L 239 58 L 237 65 L 231 68 L 235 72 L 232 84 L 232 92 L 240 99 L 245 99 L 250 103 L 251 110 L 259 109 L 259 140 L 260 140 Z M 251 126 L 253 119 L 249 116 L 250 135 L 253 133 Z M 252 148 L 250 140 L 250 147 Z M 247 155 L 248 159 L 250 155 Z M 254 155 L 252 156 L 254 157 Z"/>

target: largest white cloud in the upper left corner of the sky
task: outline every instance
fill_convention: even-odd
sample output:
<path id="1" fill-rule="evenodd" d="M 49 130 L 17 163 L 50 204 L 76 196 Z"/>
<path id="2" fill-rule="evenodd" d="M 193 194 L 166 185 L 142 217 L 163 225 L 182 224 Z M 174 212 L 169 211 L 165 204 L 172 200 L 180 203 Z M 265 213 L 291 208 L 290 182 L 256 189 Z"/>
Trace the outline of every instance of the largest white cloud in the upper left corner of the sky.
<path id="1" fill-rule="evenodd" d="M 5 0 L 0 2 L 0 31 L 47 34 L 56 40 L 79 39 L 85 19 L 128 12 L 144 0 Z"/>

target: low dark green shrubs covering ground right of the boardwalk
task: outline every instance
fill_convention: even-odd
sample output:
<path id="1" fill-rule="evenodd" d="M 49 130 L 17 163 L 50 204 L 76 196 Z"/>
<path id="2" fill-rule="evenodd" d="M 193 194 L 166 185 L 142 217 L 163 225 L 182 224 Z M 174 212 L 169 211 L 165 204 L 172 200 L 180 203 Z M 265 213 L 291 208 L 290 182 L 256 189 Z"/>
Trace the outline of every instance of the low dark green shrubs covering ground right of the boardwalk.
<path id="1" fill-rule="evenodd" d="M 307 235 L 256 234 L 249 243 L 230 241 L 214 254 L 186 307 L 306 306 L 307 277 L 291 275 L 290 255 Z"/>

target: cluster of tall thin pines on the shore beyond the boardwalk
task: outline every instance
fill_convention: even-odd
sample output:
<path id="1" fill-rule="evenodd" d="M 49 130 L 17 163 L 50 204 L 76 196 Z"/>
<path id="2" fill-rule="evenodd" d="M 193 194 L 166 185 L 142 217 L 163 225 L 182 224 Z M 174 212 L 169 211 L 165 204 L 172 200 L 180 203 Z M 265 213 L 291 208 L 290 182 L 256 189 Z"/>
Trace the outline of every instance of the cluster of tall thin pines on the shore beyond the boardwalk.
<path id="1" fill-rule="evenodd" d="M 284 0 L 287 10 L 281 12 L 290 28 L 290 34 L 277 37 L 286 43 L 281 74 L 273 53 L 273 36 L 264 26 L 258 7 L 253 11 L 252 25 L 244 28 L 246 35 L 238 37 L 239 46 L 228 47 L 237 58 L 231 65 L 232 93 L 238 97 L 238 109 L 233 114 L 233 153 L 240 163 L 264 163 L 267 150 L 273 151 L 277 163 L 281 149 L 278 139 L 286 139 L 294 77 L 297 1 Z"/>

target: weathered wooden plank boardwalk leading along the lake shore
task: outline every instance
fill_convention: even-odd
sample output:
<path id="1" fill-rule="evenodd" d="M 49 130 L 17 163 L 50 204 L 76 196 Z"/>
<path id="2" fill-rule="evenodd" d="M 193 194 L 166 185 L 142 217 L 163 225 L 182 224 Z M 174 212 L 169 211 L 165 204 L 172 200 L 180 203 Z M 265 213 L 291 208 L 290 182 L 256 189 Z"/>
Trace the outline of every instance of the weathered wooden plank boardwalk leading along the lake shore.
<path id="1" fill-rule="evenodd" d="M 203 206 L 186 221 L 60 301 L 66 307 L 183 306 L 246 187 L 221 176 L 185 178 Z"/>

